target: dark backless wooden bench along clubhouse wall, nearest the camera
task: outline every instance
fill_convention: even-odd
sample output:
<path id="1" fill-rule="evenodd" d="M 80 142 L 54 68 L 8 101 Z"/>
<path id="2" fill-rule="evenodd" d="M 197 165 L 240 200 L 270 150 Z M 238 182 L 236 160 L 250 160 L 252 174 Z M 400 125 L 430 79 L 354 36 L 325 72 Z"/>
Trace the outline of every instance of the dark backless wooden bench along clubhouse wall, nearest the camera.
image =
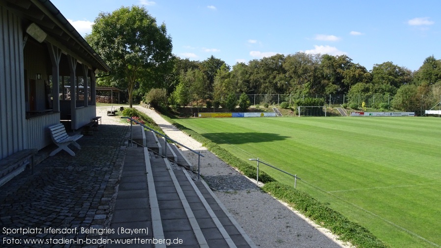
<path id="1" fill-rule="evenodd" d="M 0 186 L 22 173 L 26 165 L 32 168 L 37 149 L 25 149 L 0 160 Z"/>

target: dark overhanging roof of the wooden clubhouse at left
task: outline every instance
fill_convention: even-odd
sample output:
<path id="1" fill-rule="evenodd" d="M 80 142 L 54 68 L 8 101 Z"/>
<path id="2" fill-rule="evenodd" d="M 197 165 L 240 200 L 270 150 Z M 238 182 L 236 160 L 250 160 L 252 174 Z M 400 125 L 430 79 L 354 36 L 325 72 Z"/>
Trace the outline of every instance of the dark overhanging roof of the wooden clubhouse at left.
<path id="1" fill-rule="evenodd" d="M 21 17 L 23 25 L 35 23 L 46 32 L 45 40 L 77 58 L 83 64 L 109 72 L 104 60 L 49 0 L 2 0 L 0 4 Z"/>

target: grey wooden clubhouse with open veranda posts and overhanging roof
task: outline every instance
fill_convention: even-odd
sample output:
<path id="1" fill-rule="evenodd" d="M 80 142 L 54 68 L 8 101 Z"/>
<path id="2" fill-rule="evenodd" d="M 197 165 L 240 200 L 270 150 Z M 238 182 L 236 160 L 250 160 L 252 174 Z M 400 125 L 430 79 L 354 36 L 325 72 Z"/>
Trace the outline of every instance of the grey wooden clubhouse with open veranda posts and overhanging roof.
<path id="1" fill-rule="evenodd" d="M 90 122 L 98 71 L 110 68 L 52 2 L 0 0 L 0 160 L 51 144 L 60 120 Z"/>

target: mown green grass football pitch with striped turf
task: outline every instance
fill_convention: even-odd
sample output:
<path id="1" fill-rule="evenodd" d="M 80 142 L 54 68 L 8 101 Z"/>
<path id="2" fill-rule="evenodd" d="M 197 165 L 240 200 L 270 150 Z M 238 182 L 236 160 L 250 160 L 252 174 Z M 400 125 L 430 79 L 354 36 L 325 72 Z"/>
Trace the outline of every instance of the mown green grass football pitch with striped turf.
<path id="1" fill-rule="evenodd" d="M 298 174 L 297 189 L 368 228 L 390 247 L 441 247 L 440 118 L 174 120 L 244 161 L 259 157 Z M 260 169 L 294 185 L 287 175 L 265 165 Z"/>

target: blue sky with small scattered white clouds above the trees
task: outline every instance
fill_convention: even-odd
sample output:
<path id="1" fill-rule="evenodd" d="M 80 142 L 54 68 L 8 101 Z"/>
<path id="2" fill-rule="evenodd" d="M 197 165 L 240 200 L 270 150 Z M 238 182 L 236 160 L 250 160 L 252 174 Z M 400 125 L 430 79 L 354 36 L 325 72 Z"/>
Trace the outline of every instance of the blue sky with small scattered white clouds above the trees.
<path id="1" fill-rule="evenodd" d="M 371 70 L 391 61 L 417 70 L 441 59 L 439 0 L 52 0 L 83 35 L 100 12 L 144 5 L 172 37 L 173 54 L 214 55 L 232 66 L 275 54 L 348 55 Z"/>

